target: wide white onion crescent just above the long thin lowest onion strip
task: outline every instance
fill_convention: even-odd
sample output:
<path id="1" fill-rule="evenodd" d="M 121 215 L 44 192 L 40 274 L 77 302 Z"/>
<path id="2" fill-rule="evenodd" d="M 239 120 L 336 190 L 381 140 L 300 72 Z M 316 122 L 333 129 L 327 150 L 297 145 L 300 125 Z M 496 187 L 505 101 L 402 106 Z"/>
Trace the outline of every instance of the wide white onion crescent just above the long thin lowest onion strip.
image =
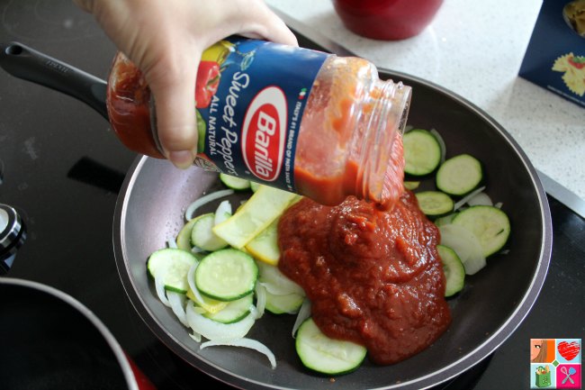
<path id="1" fill-rule="evenodd" d="M 189 306 L 193 306 L 193 302 L 190 301 L 187 304 L 187 308 Z M 208 340 L 241 339 L 246 336 L 254 322 L 256 322 L 256 313 L 254 311 L 247 314 L 243 320 L 234 323 L 215 322 L 205 318 L 200 313 L 196 313 L 194 310 L 188 309 L 186 313 L 189 327 Z"/>

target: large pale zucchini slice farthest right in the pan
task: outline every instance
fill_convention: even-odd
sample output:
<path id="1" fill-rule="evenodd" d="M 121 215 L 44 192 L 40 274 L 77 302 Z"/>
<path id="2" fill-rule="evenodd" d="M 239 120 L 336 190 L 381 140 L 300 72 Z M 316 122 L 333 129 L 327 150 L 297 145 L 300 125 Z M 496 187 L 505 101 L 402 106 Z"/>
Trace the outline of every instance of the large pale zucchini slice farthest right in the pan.
<path id="1" fill-rule="evenodd" d="M 472 206 L 458 213 L 453 219 L 455 225 L 472 231 L 480 241 L 486 258 L 506 245 L 510 233 L 508 215 L 498 207 L 488 205 Z"/>

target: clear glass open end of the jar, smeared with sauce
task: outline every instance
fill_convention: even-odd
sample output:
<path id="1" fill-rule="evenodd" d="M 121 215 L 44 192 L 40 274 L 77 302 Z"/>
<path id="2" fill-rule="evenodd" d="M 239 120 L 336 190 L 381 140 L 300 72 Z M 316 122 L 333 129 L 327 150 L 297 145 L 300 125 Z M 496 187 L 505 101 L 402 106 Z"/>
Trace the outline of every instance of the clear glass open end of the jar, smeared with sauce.
<path id="1" fill-rule="evenodd" d="M 326 205 L 356 195 L 391 209 L 402 192 L 407 89 L 379 80 L 365 59 L 328 59 L 302 116 L 294 161 L 298 193 Z"/>

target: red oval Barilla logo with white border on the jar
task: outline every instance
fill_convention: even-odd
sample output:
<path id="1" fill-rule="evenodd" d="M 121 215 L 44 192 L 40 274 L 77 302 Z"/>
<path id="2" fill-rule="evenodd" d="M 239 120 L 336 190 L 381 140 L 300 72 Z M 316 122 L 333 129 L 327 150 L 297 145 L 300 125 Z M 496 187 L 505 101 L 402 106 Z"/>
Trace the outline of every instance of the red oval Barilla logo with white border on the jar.
<path id="1" fill-rule="evenodd" d="M 274 181 L 283 166 L 287 104 L 281 88 L 268 86 L 250 102 L 242 126 L 242 155 L 256 177 Z"/>

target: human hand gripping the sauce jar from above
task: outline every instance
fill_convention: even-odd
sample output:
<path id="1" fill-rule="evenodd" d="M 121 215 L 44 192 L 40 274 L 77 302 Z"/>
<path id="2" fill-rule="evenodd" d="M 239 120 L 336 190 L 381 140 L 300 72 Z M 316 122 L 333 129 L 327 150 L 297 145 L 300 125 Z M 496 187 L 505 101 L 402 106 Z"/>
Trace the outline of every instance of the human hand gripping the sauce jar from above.
<path id="1" fill-rule="evenodd" d="M 142 71 L 155 96 L 166 159 L 188 168 L 197 153 L 195 80 L 203 50 L 239 34 L 297 45 L 262 0 L 74 0 Z"/>

